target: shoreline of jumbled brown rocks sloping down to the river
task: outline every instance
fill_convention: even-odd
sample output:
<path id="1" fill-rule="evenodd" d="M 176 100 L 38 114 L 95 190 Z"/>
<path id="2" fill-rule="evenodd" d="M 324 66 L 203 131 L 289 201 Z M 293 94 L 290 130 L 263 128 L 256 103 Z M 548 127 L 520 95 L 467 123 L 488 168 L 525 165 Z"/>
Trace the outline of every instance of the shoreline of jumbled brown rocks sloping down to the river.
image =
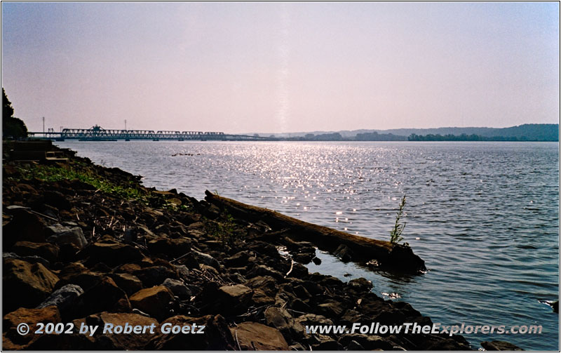
<path id="1" fill-rule="evenodd" d="M 318 260 L 317 244 L 310 241 L 329 233 L 325 229 L 275 221 L 259 208 L 210 193 L 197 201 L 175 189 L 149 189 L 138 176 L 49 148 L 58 152 L 57 160 L 3 156 L 3 349 L 471 349 L 460 335 L 306 333 L 306 325 L 432 321 L 406 302 L 379 298 L 365 279 L 345 283 L 309 273 L 303 264 Z M 4 152 L 10 149 L 4 145 Z M 306 232 L 316 235 L 303 241 Z M 367 259 L 352 242 L 329 237 L 327 247 L 348 255 L 346 260 L 424 267 L 408 251 L 396 251 L 398 260 L 391 260 L 386 242 L 373 243 L 386 251 Z M 35 334 L 37 322 L 71 323 L 74 331 Z M 32 332 L 20 335 L 21 323 Z M 78 330 L 105 324 L 196 324 L 205 331 Z"/>

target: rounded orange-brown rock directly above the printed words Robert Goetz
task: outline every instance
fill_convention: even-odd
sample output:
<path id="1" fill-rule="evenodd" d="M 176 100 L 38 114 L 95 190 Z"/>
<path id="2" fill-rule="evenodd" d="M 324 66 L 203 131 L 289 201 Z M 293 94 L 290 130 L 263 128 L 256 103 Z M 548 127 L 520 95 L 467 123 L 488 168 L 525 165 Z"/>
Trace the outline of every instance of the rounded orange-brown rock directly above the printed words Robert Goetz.
<path id="1" fill-rule="evenodd" d="M 173 293 L 168 287 L 154 286 L 141 289 L 130 296 L 130 304 L 156 319 L 165 319 L 173 307 Z"/>

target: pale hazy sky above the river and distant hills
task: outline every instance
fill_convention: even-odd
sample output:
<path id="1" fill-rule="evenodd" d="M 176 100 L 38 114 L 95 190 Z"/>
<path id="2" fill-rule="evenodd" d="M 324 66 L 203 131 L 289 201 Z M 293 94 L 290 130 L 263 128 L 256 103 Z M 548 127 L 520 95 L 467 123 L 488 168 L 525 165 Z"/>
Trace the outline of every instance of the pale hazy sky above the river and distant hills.
<path id="1" fill-rule="evenodd" d="M 2 3 L 32 131 L 504 127 L 560 118 L 559 3 Z"/>

